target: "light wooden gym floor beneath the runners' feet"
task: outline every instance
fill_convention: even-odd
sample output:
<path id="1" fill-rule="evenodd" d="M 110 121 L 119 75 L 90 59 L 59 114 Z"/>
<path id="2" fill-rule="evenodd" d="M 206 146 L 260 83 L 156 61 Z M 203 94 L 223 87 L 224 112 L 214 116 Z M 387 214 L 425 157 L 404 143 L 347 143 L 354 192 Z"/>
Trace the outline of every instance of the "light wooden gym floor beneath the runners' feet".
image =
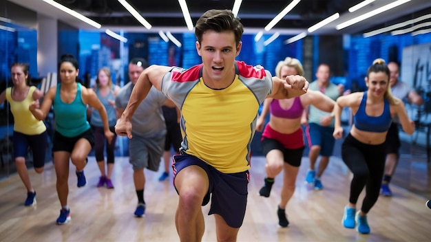
<path id="1" fill-rule="evenodd" d="M 286 210 L 291 223 L 288 228 L 277 228 L 282 174 L 275 181 L 271 197 L 258 196 L 264 163 L 264 157 L 252 158 L 249 202 L 238 241 L 430 241 L 431 210 L 425 207 L 428 198 L 397 186 L 392 186 L 394 197 L 380 197 L 368 214 L 371 234 L 344 228 L 341 217 L 348 201 L 351 175 L 337 157 L 331 159 L 321 191 L 304 184 L 308 159 L 303 158 L 297 190 Z M 71 165 L 72 221 L 66 225 L 54 223 L 60 205 L 51 164 L 42 175 L 30 172 L 37 192 L 34 207 L 23 206 L 26 191 L 18 175 L 0 181 L 0 241 L 178 241 L 174 225 L 178 195 L 171 179 L 160 182 L 160 173 L 146 171 L 147 212 L 144 218 L 135 218 L 137 199 L 127 157 L 116 158 L 114 190 L 96 188 L 99 172 L 94 157 L 90 157 L 85 174 L 87 185 L 77 188 Z M 202 210 L 206 223 L 203 241 L 215 241 L 213 216 L 206 215 L 209 206 Z"/>

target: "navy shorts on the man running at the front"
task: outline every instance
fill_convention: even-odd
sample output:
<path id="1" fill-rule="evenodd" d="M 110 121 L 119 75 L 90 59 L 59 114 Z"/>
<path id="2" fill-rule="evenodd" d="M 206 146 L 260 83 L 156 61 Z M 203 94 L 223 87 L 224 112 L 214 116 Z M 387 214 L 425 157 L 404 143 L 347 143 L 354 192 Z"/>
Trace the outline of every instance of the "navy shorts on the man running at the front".
<path id="1" fill-rule="evenodd" d="M 174 179 L 176 174 L 187 166 L 199 166 L 204 169 L 209 178 L 208 193 L 205 195 L 202 206 L 209 202 L 211 195 L 210 214 L 219 214 L 227 225 L 240 228 L 247 205 L 247 186 L 249 184 L 249 171 L 241 173 L 221 173 L 213 166 L 193 155 L 174 155 Z"/>

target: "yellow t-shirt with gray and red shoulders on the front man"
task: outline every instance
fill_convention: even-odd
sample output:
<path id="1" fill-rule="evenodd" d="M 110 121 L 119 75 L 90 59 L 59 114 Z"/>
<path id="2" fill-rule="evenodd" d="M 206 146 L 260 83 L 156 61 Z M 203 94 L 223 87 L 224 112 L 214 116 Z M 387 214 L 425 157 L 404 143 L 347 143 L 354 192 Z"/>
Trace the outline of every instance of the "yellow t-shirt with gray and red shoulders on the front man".
<path id="1" fill-rule="evenodd" d="M 235 68 L 235 80 L 221 90 L 204 84 L 202 65 L 174 67 L 162 80 L 162 92 L 181 110 L 181 151 L 222 173 L 250 168 L 257 111 L 272 91 L 272 76 L 262 67 L 236 62 Z"/>

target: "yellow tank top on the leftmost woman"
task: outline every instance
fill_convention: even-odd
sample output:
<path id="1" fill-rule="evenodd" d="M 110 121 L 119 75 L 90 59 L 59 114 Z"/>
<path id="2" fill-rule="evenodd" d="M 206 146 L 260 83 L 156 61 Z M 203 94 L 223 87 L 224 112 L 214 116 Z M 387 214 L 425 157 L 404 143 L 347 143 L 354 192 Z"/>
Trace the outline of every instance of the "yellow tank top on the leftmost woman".
<path id="1" fill-rule="evenodd" d="M 27 97 L 17 102 L 12 99 L 12 87 L 6 89 L 6 100 L 10 102 L 10 111 L 14 115 L 14 131 L 25 135 L 39 135 L 46 130 L 45 124 L 41 120 L 34 118 L 28 107 L 34 101 L 33 92 L 36 87 L 28 89 Z"/>

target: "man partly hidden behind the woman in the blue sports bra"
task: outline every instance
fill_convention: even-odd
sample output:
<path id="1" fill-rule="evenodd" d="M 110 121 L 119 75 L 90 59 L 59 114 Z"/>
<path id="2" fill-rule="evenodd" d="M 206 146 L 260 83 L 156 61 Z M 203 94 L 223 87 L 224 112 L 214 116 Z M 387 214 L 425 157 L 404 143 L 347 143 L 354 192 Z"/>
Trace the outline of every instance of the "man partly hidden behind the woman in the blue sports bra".
<path id="1" fill-rule="evenodd" d="M 423 98 L 414 91 L 410 85 L 398 80 L 399 65 L 395 62 L 390 62 L 388 63 L 388 68 L 390 71 L 389 84 L 392 96 L 412 104 L 421 105 L 423 103 Z M 389 183 L 392 175 L 395 173 L 395 168 L 397 168 L 399 147 L 401 146 L 398 131 L 399 124 L 397 121 L 398 118 L 395 117 L 390 125 L 388 133 L 386 134 L 386 165 L 383 181 L 381 183 L 381 195 L 386 197 L 392 196 L 392 192 L 389 189 Z"/>

